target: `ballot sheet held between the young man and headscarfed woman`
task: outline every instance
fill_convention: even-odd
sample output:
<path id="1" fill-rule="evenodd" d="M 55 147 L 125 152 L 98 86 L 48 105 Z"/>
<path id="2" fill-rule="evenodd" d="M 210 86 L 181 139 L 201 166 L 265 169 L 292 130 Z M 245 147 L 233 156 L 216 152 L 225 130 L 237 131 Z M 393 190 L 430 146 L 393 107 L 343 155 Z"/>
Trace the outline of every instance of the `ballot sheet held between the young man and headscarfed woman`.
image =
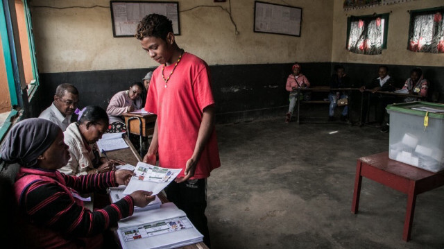
<path id="1" fill-rule="evenodd" d="M 159 194 L 162 189 L 178 176 L 182 169 L 166 169 L 160 166 L 137 162 L 136 169 L 123 194 L 131 194 L 137 190 L 152 191 Z"/>

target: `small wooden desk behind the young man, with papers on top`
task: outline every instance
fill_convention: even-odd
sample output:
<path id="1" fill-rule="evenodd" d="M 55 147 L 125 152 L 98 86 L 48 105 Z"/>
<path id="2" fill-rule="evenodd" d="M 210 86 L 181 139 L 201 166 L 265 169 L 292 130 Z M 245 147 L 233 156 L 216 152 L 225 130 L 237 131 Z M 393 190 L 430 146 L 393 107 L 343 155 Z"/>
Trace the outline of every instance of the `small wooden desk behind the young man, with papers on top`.
<path id="1" fill-rule="evenodd" d="M 153 135 L 157 115 L 152 113 L 124 113 L 122 115 L 125 118 L 128 137 L 130 134 L 139 135 L 139 153 L 142 156 L 142 137 Z"/>

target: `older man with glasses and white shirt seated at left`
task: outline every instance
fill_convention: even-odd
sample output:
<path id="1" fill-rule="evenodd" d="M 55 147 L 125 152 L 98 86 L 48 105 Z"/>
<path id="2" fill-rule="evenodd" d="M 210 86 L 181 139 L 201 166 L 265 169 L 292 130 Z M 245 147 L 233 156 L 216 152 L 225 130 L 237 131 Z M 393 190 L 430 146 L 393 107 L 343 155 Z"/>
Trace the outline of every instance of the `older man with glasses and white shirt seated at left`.
<path id="1" fill-rule="evenodd" d="M 71 115 L 77 108 L 78 91 L 74 85 L 62 84 L 56 89 L 54 101 L 49 108 L 40 113 L 40 119 L 56 123 L 63 131 L 71 123 Z"/>

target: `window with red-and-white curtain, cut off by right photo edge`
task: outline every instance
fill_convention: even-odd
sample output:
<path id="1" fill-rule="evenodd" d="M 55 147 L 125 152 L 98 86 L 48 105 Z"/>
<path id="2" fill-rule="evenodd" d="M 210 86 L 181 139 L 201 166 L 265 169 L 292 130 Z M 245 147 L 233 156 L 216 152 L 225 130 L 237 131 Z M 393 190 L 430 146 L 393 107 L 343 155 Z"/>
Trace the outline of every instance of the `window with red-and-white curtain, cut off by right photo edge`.
<path id="1" fill-rule="evenodd" d="M 444 53 L 444 8 L 412 12 L 407 49 L 422 53 Z"/>

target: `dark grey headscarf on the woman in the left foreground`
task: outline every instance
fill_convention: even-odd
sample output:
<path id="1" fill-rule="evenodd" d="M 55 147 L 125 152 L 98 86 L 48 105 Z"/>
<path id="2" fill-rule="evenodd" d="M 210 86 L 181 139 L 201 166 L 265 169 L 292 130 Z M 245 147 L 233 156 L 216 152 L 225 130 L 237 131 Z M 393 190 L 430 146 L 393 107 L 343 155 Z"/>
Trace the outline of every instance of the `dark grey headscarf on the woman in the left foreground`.
<path id="1" fill-rule="evenodd" d="M 37 157 L 51 146 L 61 131 L 55 123 L 46 119 L 20 121 L 12 127 L 3 143 L 1 160 L 27 168 L 35 167 Z"/>

